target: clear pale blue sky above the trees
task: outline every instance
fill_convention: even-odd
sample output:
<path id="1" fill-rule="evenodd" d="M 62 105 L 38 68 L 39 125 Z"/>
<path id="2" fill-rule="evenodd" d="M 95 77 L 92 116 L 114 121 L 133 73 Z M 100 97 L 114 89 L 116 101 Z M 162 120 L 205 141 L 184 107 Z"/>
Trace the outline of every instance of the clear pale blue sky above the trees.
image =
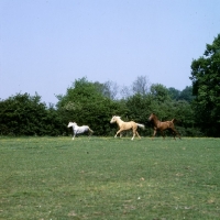
<path id="1" fill-rule="evenodd" d="M 219 0 L 0 0 L 0 98 L 56 103 L 75 79 L 183 90 L 220 33 Z"/>

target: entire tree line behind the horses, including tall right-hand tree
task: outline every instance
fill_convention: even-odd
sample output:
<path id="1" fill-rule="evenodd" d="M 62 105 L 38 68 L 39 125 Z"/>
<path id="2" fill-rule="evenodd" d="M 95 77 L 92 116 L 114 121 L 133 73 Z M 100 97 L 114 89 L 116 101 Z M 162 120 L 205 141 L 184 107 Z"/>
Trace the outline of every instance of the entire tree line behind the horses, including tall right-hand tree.
<path id="1" fill-rule="evenodd" d="M 193 61 L 190 79 L 193 86 L 179 91 L 139 76 L 119 97 L 116 82 L 82 77 L 56 96 L 56 106 L 46 106 L 37 94 L 16 94 L 0 100 L 0 135 L 69 135 L 67 123 L 75 121 L 90 125 L 95 135 L 109 136 L 118 129 L 109 123 L 111 117 L 120 116 L 144 123 L 140 133 L 150 136 L 147 119 L 154 112 L 161 121 L 175 118 L 183 136 L 220 136 L 220 34 L 207 44 L 204 56 Z"/>

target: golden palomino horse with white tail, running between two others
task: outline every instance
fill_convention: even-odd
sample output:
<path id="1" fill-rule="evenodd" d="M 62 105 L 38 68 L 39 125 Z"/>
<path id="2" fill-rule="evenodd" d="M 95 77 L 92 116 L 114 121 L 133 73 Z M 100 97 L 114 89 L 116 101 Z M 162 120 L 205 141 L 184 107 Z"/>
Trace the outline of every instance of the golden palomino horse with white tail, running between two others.
<path id="1" fill-rule="evenodd" d="M 145 127 L 143 124 L 139 124 L 139 123 L 135 123 L 134 121 L 129 121 L 129 122 L 124 122 L 121 120 L 121 117 L 112 117 L 110 123 L 117 123 L 119 125 L 119 131 L 117 132 L 117 134 L 114 135 L 114 138 L 117 138 L 117 135 L 120 133 L 120 138 L 121 138 L 121 132 L 122 131 L 127 131 L 127 130 L 130 130 L 132 129 L 133 131 L 133 136 L 131 140 L 134 139 L 135 134 L 141 139 L 141 136 L 139 135 L 138 133 L 138 127 L 144 129 Z"/>

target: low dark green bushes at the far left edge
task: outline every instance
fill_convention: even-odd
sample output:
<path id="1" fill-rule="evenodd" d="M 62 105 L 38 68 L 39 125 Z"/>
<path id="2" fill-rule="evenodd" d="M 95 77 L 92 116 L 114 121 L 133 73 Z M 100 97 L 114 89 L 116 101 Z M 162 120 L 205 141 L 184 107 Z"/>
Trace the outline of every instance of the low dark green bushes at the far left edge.
<path id="1" fill-rule="evenodd" d="M 47 109 L 41 97 L 18 94 L 0 101 L 1 135 L 58 135 L 62 132 L 57 112 Z"/>

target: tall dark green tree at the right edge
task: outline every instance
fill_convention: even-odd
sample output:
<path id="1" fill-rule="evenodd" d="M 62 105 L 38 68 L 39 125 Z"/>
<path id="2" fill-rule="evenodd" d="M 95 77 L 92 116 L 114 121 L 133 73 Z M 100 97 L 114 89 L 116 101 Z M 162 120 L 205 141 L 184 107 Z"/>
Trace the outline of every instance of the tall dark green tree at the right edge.
<path id="1" fill-rule="evenodd" d="M 190 79 L 198 124 L 207 135 L 220 136 L 220 34 L 193 61 Z"/>

